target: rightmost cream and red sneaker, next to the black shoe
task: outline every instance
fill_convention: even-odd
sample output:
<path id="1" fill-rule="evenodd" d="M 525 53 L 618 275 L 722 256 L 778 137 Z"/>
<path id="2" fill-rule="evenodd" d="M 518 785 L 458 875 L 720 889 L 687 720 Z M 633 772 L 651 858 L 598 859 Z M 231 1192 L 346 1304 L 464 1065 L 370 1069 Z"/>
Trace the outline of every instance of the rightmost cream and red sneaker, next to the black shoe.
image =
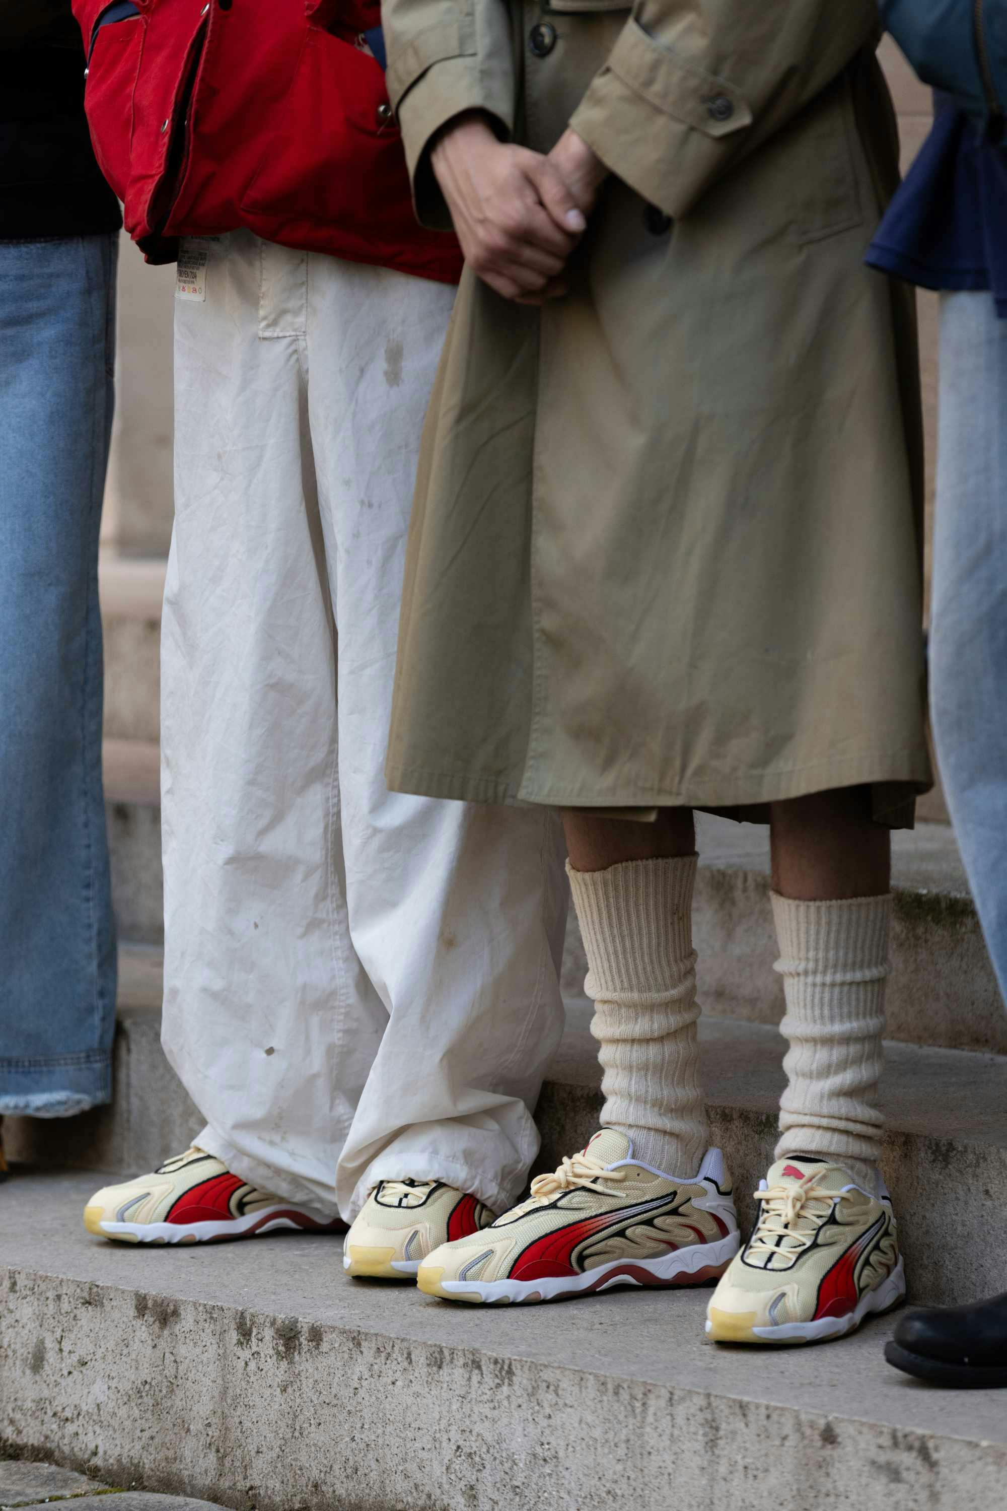
<path id="1" fill-rule="evenodd" d="M 823 1343 L 906 1295 L 888 1191 L 821 1159 L 779 1159 L 755 1192 L 752 1238 L 707 1309 L 717 1343 Z"/>

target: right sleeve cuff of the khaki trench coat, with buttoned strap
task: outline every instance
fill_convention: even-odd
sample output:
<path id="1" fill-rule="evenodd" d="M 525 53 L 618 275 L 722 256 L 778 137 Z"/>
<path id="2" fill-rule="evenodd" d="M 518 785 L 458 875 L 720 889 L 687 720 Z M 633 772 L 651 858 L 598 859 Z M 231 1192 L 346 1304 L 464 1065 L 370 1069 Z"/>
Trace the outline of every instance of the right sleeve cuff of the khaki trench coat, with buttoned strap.
<path id="1" fill-rule="evenodd" d="M 569 124 L 610 172 L 676 219 L 744 150 L 752 119 L 737 85 L 631 20 Z"/>

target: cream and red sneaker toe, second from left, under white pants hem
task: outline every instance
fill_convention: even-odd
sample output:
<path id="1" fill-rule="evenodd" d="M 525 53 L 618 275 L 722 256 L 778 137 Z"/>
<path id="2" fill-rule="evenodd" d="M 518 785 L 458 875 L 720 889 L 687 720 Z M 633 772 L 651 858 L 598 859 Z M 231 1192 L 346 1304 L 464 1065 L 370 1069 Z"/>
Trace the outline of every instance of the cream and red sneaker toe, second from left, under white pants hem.
<path id="1" fill-rule="evenodd" d="M 343 1269 L 368 1280 L 412 1280 L 420 1262 L 494 1213 L 439 1180 L 379 1180 L 343 1244 Z"/>

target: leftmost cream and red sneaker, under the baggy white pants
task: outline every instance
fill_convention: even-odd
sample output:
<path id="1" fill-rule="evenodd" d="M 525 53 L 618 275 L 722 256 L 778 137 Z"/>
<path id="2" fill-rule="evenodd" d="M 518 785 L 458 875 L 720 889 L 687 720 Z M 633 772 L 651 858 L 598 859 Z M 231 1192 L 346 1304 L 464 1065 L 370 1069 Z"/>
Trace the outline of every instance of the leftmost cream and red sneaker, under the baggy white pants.
<path id="1" fill-rule="evenodd" d="M 95 1191 L 85 1227 L 121 1244 L 213 1244 L 281 1228 L 341 1233 L 346 1224 L 257 1191 L 213 1154 L 189 1148 L 149 1176 Z"/>

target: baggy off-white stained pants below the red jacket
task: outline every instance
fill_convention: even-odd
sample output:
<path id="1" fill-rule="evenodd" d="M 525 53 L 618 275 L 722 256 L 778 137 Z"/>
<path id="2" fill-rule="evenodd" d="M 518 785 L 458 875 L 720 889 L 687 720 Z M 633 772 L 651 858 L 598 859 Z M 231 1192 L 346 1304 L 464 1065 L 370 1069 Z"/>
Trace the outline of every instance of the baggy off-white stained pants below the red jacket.
<path id="1" fill-rule="evenodd" d="M 175 304 L 165 1027 L 236 1174 L 513 1203 L 562 1032 L 544 810 L 390 793 L 420 429 L 453 289 L 237 231 Z M 337 691 L 338 686 L 338 691 Z"/>

